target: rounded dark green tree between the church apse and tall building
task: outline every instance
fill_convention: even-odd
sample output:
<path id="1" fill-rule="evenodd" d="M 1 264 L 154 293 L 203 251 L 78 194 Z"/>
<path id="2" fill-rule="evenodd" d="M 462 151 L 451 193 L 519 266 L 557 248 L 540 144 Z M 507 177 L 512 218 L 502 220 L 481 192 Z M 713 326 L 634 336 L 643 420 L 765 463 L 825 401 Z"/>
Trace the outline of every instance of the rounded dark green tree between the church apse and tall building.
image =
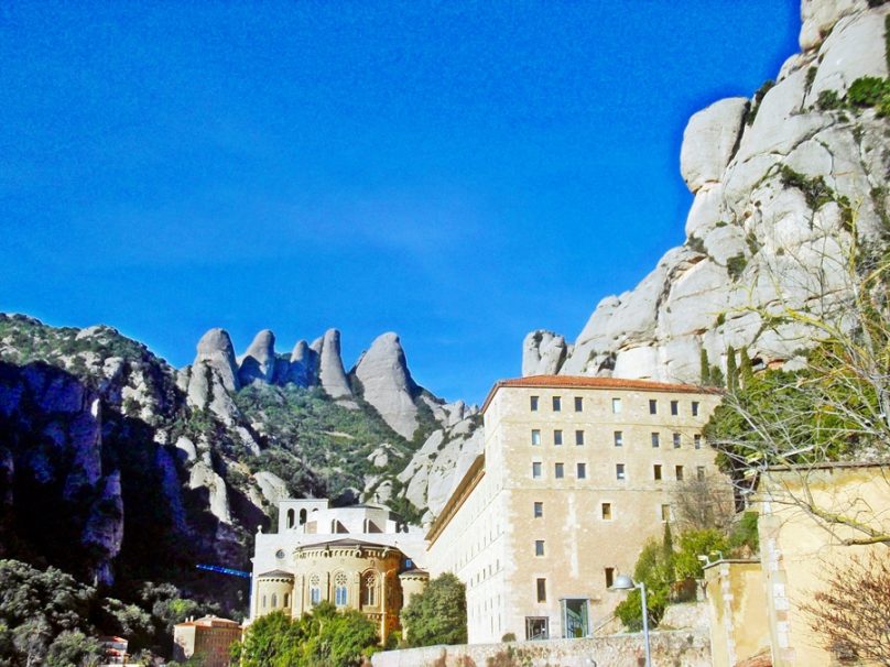
<path id="1" fill-rule="evenodd" d="M 460 580 L 445 572 L 433 579 L 402 610 L 409 646 L 466 644 L 467 598 Z"/>

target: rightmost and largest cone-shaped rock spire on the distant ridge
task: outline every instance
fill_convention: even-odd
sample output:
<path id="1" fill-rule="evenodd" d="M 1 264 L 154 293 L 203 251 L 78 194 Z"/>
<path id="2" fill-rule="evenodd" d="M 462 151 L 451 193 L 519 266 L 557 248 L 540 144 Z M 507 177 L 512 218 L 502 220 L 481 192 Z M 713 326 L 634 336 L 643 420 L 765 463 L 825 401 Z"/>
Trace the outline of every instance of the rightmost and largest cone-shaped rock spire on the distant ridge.
<path id="1" fill-rule="evenodd" d="M 410 440 L 417 429 L 419 387 L 411 378 L 402 343 L 395 334 L 379 336 L 352 371 L 363 387 L 363 398 L 400 436 Z"/>

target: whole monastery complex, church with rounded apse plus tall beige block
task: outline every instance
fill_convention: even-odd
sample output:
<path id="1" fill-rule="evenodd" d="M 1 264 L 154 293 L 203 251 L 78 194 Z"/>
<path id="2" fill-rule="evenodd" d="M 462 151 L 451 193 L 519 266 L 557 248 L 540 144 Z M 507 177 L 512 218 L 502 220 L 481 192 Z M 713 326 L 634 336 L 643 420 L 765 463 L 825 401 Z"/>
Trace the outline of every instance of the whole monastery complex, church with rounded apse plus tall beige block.
<path id="1" fill-rule="evenodd" d="M 428 570 L 466 583 L 470 643 L 586 636 L 621 600 L 614 577 L 672 520 L 677 482 L 720 474 L 701 435 L 719 401 L 639 380 L 498 382 L 484 451 L 425 539 L 382 507 L 284 501 L 278 534 L 257 535 L 251 619 L 330 600 L 386 637 Z"/>

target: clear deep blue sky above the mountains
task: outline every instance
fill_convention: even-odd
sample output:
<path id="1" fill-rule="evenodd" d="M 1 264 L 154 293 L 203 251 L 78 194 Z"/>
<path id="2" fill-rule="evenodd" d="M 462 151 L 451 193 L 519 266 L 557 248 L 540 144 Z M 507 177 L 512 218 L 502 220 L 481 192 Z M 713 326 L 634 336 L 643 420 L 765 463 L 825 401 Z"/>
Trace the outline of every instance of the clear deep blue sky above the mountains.
<path id="1" fill-rule="evenodd" d="M 683 241 L 688 117 L 791 0 L 0 3 L 0 310 L 176 365 L 387 330 L 479 402 Z"/>

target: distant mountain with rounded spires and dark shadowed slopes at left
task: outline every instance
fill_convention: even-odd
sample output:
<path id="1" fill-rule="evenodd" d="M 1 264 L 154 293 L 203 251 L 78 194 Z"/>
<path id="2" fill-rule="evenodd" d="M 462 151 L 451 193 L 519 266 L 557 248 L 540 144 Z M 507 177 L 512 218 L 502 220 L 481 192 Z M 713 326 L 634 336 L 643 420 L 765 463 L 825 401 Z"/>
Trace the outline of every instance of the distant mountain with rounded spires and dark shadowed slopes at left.
<path id="1" fill-rule="evenodd" d="M 110 327 L 0 315 L 0 557 L 198 587 L 195 562 L 242 567 L 282 497 L 437 512 L 477 411 L 417 385 L 394 334 L 348 373 L 336 330 L 274 345 L 237 356 L 211 329 L 177 371 Z"/>

